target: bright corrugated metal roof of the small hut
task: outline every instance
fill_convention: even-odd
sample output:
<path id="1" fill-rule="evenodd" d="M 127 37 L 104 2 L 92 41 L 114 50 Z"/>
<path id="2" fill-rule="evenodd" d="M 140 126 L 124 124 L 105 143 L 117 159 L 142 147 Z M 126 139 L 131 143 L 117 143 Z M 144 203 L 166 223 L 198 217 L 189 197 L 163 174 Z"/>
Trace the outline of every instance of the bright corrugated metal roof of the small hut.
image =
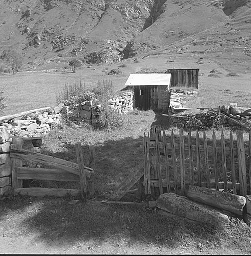
<path id="1" fill-rule="evenodd" d="M 129 85 L 167 85 L 169 86 L 171 74 L 165 73 L 133 73 L 130 74 L 125 86 Z"/>

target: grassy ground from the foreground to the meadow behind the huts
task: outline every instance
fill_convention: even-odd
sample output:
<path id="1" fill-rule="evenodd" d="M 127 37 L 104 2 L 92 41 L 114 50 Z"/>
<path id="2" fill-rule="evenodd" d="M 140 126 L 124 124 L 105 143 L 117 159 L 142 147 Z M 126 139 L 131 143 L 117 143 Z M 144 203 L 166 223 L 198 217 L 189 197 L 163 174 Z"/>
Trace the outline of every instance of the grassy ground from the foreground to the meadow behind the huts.
<path id="1" fill-rule="evenodd" d="M 152 65 L 156 64 L 153 59 Z M 142 64 L 142 63 L 141 63 Z M 109 66 L 113 68 L 115 64 Z M 55 94 L 65 83 L 110 79 L 115 89 L 123 87 L 127 76 L 139 63 L 123 73 L 110 76 L 103 66 L 76 73 L 20 72 L 0 75 L 9 97 L 4 114 L 55 105 Z M 163 69 L 163 66 L 159 66 Z M 209 69 L 207 69 L 209 72 Z M 249 106 L 250 74 L 241 77 L 200 76 L 199 94 L 187 97 L 186 106 L 212 106 L 238 102 Z M 0 251 L 4 253 L 101 253 L 101 254 L 250 254 L 251 229 L 242 220 L 231 219 L 230 227 L 214 231 L 180 217 L 157 214 L 146 206 L 109 206 L 95 201 L 97 195 L 116 189 L 128 174 L 143 168 L 142 136 L 151 125 L 162 125 L 170 134 L 170 122 L 152 110 L 134 110 L 124 115 L 121 128 L 107 132 L 82 126 L 63 126 L 47 133 L 41 152 L 76 162 L 75 143 L 81 142 L 84 157 L 88 145 L 96 150 L 94 173 L 88 184 L 88 201 L 69 204 L 73 198 L 10 196 L 0 201 Z M 178 130 L 176 129 L 176 134 Z M 225 131 L 229 133 L 228 130 Z M 208 137 L 212 131 L 207 131 Z M 220 138 L 220 131 L 217 131 Z M 245 134 L 245 139 L 248 139 Z M 78 187 L 78 183 L 34 183 L 37 186 Z M 136 200 L 133 195 L 131 200 Z"/>

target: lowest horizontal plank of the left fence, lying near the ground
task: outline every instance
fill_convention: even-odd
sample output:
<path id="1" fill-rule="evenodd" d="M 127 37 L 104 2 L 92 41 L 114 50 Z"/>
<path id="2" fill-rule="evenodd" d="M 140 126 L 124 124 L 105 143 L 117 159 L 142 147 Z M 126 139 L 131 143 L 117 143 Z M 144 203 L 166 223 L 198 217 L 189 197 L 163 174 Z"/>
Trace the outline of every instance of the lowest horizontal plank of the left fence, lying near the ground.
<path id="1" fill-rule="evenodd" d="M 47 187 L 24 187 L 15 188 L 14 192 L 20 193 L 22 195 L 30 196 L 65 196 L 70 194 L 71 196 L 79 196 L 81 190 L 79 189 L 69 189 L 69 188 L 47 188 Z"/>

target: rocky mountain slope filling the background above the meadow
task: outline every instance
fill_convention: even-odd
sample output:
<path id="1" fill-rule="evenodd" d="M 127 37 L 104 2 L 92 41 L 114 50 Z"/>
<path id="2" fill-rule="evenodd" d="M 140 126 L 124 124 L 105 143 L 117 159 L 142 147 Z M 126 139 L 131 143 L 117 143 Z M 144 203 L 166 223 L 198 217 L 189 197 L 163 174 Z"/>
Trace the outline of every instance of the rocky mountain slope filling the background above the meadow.
<path id="1" fill-rule="evenodd" d="M 251 57 L 251 0 L 0 0 L 0 52 L 34 67 L 77 56 L 87 63 L 203 52 Z M 221 53 L 219 53 L 221 52 Z M 240 62 L 240 61 L 239 61 Z"/>

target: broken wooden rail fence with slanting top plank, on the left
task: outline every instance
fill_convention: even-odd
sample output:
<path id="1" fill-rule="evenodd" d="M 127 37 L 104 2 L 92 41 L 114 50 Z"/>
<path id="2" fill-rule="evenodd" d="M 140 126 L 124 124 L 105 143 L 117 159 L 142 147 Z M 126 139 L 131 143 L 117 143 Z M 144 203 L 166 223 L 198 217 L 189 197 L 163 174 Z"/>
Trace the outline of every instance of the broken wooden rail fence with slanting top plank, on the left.
<path id="1" fill-rule="evenodd" d="M 82 197 L 86 197 L 86 178 L 90 178 L 92 168 L 84 166 L 80 142 L 75 145 L 78 163 L 22 149 L 22 142 L 20 139 L 12 139 L 10 148 L 12 188 L 15 192 L 34 196 L 64 196 L 68 193 L 71 195 L 81 194 Z M 22 166 L 24 160 L 40 163 L 48 168 Z M 22 180 L 24 179 L 80 181 L 81 189 L 22 187 Z"/>

